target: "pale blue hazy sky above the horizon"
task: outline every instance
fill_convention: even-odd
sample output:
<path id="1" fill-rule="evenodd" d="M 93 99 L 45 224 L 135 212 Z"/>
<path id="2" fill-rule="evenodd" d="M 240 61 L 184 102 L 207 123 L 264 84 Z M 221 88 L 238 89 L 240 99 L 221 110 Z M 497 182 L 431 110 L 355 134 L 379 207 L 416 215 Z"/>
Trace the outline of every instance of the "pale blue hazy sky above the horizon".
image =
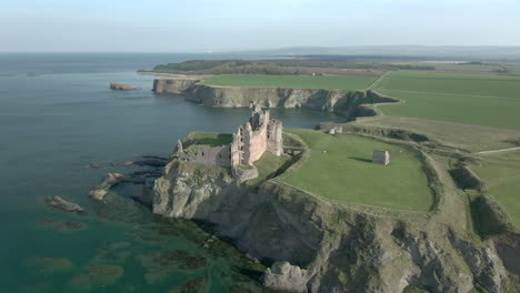
<path id="1" fill-rule="evenodd" d="M 3 52 L 520 46 L 519 0 L 2 0 Z"/>

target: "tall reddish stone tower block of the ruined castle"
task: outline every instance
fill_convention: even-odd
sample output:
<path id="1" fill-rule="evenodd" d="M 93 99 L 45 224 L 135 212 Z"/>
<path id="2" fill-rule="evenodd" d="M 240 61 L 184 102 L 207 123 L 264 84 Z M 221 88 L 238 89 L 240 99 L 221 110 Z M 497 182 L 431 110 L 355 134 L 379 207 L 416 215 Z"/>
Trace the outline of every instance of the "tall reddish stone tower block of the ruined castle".
<path id="1" fill-rule="evenodd" d="M 249 121 L 233 133 L 231 165 L 250 165 L 266 151 L 274 155 L 283 153 L 282 123 L 271 120 L 269 110 L 254 105 Z"/>

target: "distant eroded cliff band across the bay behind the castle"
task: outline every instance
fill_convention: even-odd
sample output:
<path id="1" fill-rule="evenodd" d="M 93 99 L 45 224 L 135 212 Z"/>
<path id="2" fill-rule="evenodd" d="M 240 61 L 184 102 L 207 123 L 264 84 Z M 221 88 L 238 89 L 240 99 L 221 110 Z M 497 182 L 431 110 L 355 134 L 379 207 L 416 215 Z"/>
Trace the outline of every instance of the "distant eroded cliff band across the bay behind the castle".
<path id="1" fill-rule="evenodd" d="M 398 102 L 373 91 L 347 91 L 290 88 L 249 88 L 208 85 L 194 78 L 169 78 L 153 81 L 156 93 L 183 94 L 188 101 L 214 107 L 242 108 L 251 103 L 262 107 L 309 108 L 343 117 L 373 115 L 361 104 Z"/>

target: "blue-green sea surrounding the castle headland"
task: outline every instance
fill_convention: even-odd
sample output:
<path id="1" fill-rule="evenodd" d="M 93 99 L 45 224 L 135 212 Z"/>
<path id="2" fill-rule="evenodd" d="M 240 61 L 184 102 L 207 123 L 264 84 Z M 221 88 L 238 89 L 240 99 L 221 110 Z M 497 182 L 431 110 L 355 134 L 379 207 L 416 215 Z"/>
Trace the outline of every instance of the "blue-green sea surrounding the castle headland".
<path id="1" fill-rule="evenodd" d="M 108 172 L 138 170 L 91 163 L 168 156 L 191 131 L 231 132 L 248 119 L 247 109 L 154 95 L 154 77 L 136 73 L 210 58 L 236 57 L 0 54 L 1 292 L 266 291 L 261 264 L 190 221 L 153 215 L 131 199 L 131 186 L 117 186 L 106 204 L 88 196 Z M 111 91 L 112 81 L 142 89 Z M 294 128 L 338 119 L 306 110 L 273 117 Z M 87 213 L 47 206 L 54 194 Z"/>

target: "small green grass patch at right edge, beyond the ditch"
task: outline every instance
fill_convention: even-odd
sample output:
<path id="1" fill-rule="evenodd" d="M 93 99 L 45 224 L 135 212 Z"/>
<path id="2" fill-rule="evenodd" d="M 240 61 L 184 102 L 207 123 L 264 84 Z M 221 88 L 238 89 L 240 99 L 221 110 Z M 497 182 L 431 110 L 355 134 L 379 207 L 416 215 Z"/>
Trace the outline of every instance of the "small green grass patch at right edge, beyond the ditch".
<path id="1" fill-rule="evenodd" d="M 520 230 L 520 151 L 482 154 L 481 158 L 482 163 L 471 169 Z"/>

